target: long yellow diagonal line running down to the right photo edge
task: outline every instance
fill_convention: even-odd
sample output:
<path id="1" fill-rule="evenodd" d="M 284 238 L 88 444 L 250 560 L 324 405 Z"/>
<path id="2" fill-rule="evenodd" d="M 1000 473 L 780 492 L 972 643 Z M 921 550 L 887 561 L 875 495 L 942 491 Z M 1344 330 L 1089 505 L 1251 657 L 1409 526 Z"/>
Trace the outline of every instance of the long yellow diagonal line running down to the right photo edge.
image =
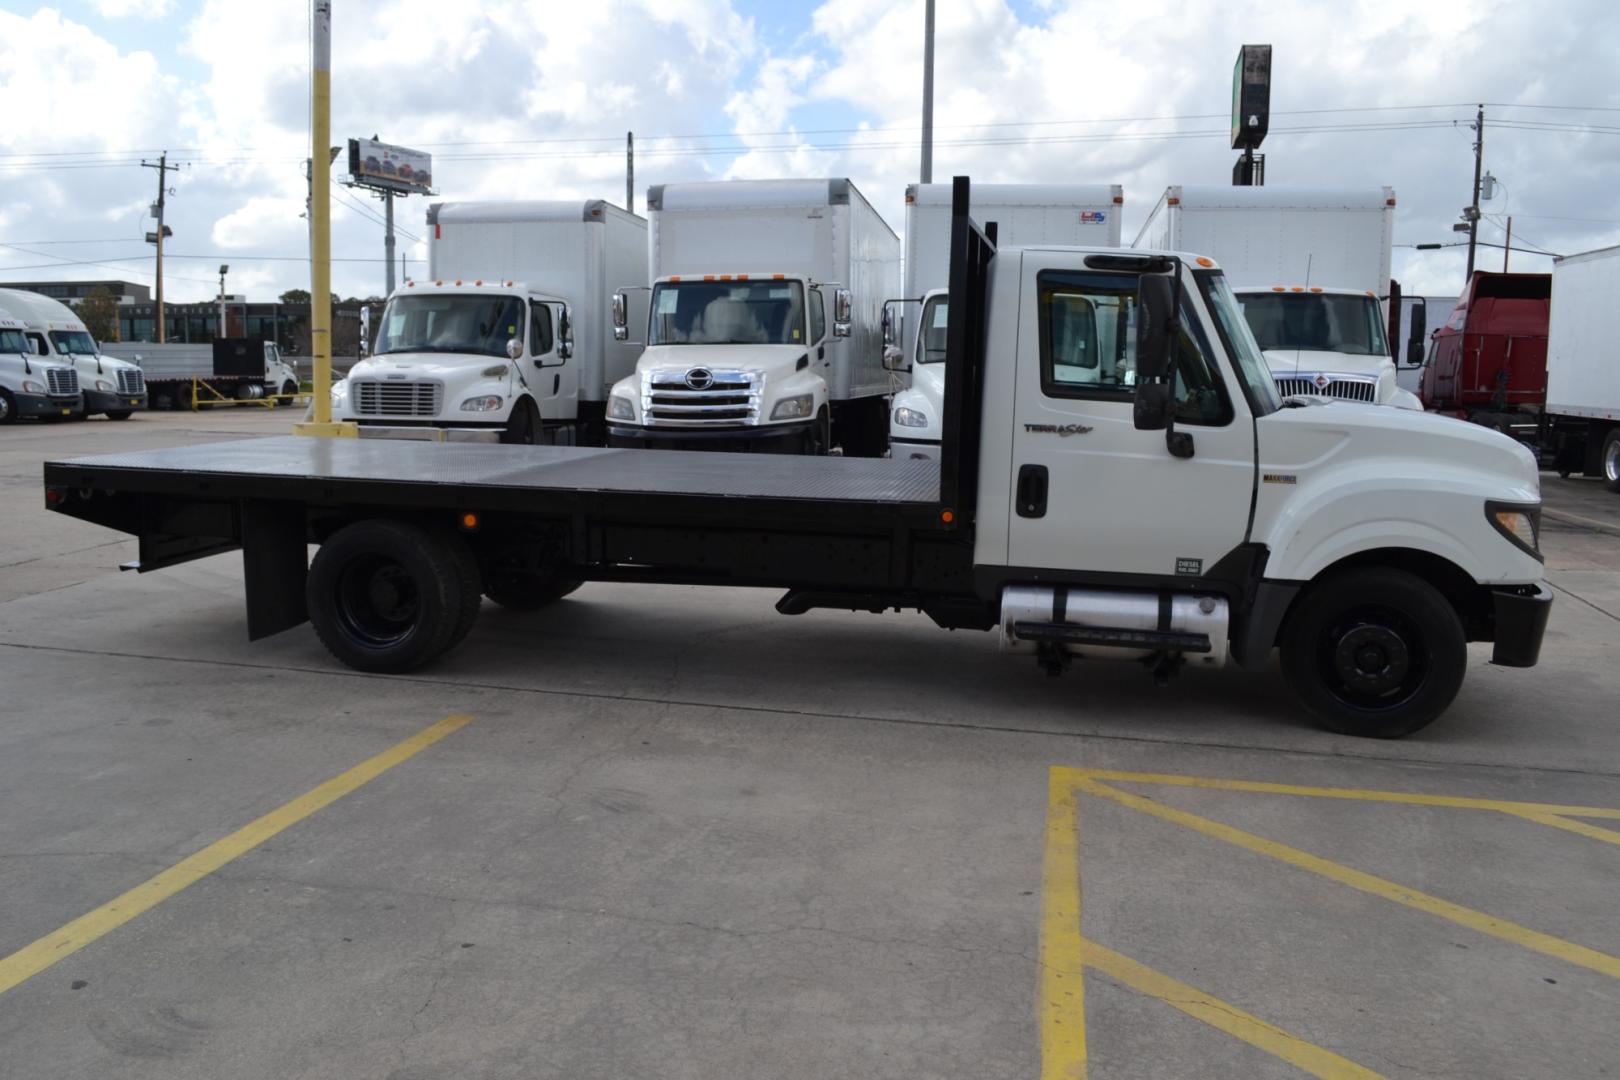
<path id="1" fill-rule="evenodd" d="M 1620 978 L 1620 957 L 1612 957 L 1605 952 L 1597 952 L 1596 949 L 1588 949 L 1586 946 L 1578 946 L 1575 942 L 1563 941 L 1562 938 L 1554 938 L 1552 934 L 1544 934 L 1528 926 L 1520 926 L 1518 923 L 1510 923 L 1508 920 L 1495 918 L 1494 915 L 1486 915 L 1484 912 L 1476 912 L 1460 904 L 1452 904 L 1450 900 L 1442 900 L 1440 897 L 1419 892 L 1418 889 L 1408 889 L 1406 886 L 1353 870 L 1343 863 L 1335 863 L 1332 860 L 1320 858 L 1319 855 L 1301 852 L 1299 848 L 1288 847 L 1286 844 L 1267 840 L 1265 837 L 1252 832 L 1244 832 L 1243 829 L 1234 829 L 1184 810 L 1165 806 L 1163 803 L 1142 798 L 1140 795 L 1106 787 L 1095 779 L 1076 776 L 1074 785 L 1087 795 L 1097 795 L 1098 798 L 1106 798 L 1129 810 L 1139 810 L 1145 814 L 1192 829 L 1194 832 L 1202 832 L 1204 836 L 1217 840 L 1225 840 L 1226 844 L 1247 848 L 1257 855 L 1265 855 L 1267 858 L 1275 858 L 1291 866 L 1298 866 L 1299 870 L 1307 870 L 1314 874 L 1327 878 L 1328 881 L 1361 889 L 1362 892 L 1383 897 L 1385 900 L 1393 900 L 1395 904 L 1401 904 L 1418 912 L 1437 915 L 1458 923 L 1460 926 L 1468 926 L 1469 929 L 1490 934 L 1492 938 L 1500 938 L 1502 941 L 1515 946 L 1534 949 L 1536 952 L 1542 952 L 1549 957 L 1557 957 L 1568 963 L 1591 968 L 1592 972 L 1599 972 L 1610 978 Z"/>

